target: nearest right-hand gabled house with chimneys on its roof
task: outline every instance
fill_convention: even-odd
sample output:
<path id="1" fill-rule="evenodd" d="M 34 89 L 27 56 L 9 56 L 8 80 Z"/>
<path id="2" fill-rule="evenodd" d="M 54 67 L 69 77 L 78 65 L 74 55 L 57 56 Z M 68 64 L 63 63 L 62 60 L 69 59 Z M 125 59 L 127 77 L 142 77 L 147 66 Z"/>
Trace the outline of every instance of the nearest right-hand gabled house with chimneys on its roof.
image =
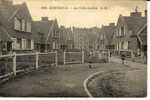
<path id="1" fill-rule="evenodd" d="M 146 16 L 147 14 L 142 16 L 142 13 L 137 9 L 135 12 L 131 12 L 130 16 L 119 16 L 114 34 L 115 49 L 118 52 L 131 51 L 135 56 L 140 55 L 140 40 L 137 30 L 147 24 Z M 147 33 L 145 32 L 145 34 Z"/>

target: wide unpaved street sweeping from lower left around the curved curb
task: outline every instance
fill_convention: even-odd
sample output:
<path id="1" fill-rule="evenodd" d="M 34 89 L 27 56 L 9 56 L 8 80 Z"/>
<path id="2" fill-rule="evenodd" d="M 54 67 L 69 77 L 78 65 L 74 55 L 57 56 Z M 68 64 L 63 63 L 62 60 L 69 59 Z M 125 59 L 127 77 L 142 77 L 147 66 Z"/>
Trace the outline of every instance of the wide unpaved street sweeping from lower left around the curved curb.
<path id="1" fill-rule="evenodd" d="M 1 85 L 1 96 L 28 97 L 87 97 L 84 80 L 99 71 L 133 70 L 135 68 L 118 63 L 61 65 L 45 67 Z M 14 92 L 15 91 L 15 92 Z"/>

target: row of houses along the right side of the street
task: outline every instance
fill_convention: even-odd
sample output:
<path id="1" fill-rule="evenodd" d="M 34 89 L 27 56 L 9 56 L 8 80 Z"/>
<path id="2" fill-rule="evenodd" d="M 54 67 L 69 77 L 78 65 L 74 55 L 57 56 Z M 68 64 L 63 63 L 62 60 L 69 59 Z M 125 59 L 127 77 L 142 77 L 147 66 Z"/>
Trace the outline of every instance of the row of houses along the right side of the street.
<path id="1" fill-rule="evenodd" d="M 132 51 L 135 56 L 147 53 L 147 10 L 135 9 L 130 16 L 120 15 L 117 24 L 102 26 L 99 33 L 99 49 Z"/>

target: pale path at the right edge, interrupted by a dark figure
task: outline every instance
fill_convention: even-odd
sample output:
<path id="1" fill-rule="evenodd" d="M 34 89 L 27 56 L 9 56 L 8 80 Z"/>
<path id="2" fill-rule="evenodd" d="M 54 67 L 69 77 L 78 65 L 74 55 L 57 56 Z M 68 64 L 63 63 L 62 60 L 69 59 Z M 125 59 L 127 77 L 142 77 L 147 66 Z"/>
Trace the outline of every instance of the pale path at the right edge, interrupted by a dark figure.
<path id="1" fill-rule="evenodd" d="M 121 59 L 117 58 L 117 57 L 111 57 L 110 61 L 111 62 L 115 62 L 115 63 L 119 63 L 119 64 L 122 63 Z M 127 60 L 125 60 L 125 65 L 128 65 L 128 66 L 130 66 L 132 68 L 147 69 L 147 64 L 141 64 L 141 63 L 127 61 Z"/>

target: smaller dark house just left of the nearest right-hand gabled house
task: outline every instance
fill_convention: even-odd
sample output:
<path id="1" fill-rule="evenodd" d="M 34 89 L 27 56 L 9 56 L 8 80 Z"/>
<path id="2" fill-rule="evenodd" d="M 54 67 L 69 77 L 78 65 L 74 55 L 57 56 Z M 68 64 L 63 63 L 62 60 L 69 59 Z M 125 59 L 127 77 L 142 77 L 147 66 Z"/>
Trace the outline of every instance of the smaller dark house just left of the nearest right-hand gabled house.
<path id="1" fill-rule="evenodd" d="M 115 34 L 116 26 L 115 23 L 110 23 L 108 26 L 102 25 L 99 32 L 99 49 L 114 49 L 113 36 Z"/>

